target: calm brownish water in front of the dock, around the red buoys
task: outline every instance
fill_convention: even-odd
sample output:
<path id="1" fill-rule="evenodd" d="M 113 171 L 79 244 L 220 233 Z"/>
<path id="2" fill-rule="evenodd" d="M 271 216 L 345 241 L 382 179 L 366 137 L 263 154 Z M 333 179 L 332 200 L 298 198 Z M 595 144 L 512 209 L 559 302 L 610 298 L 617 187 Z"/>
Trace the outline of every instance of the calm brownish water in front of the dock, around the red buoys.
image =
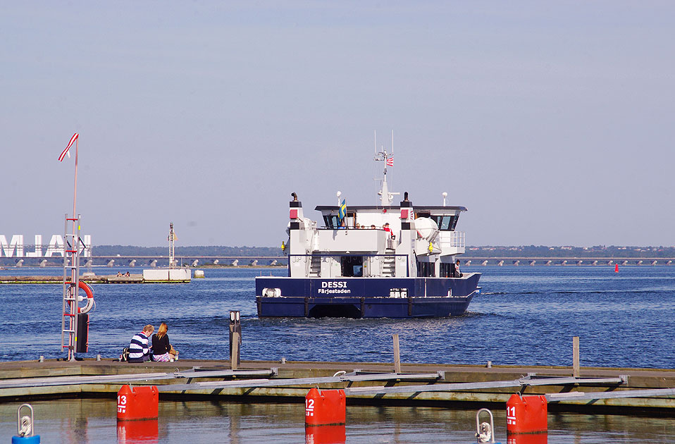
<path id="1" fill-rule="evenodd" d="M 146 424 L 116 421 L 115 400 L 33 402 L 35 433 L 42 443 L 233 443 L 304 444 L 304 403 L 160 402 L 159 420 Z M 16 435 L 16 408 L 0 405 L 0 437 Z M 495 411 L 495 437 L 506 444 L 506 412 Z M 139 423 L 145 421 L 130 421 Z M 144 434 L 140 438 L 139 429 Z M 475 443 L 475 412 L 431 407 L 347 407 L 349 444 Z M 547 444 L 666 444 L 671 418 L 549 414 Z M 523 438 L 523 437 L 521 437 Z M 540 440 L 517 443 L 541 444 Z M 314 440 L 314 444 L 321 444 Z"/>

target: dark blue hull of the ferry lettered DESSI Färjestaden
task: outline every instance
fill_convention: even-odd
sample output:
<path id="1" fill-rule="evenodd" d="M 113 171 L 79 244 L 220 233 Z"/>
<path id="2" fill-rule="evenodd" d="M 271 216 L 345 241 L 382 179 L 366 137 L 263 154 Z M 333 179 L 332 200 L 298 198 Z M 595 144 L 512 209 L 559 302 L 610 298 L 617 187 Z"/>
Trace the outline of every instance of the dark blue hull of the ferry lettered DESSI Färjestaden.
<path id="1" fill-rule="evenodd" d="M 460 316 L 478 287 L 466 278 L 256 278 L 259 317 L 422 318 Z M 278 289 L 280 296 L 264 295 Z"/>

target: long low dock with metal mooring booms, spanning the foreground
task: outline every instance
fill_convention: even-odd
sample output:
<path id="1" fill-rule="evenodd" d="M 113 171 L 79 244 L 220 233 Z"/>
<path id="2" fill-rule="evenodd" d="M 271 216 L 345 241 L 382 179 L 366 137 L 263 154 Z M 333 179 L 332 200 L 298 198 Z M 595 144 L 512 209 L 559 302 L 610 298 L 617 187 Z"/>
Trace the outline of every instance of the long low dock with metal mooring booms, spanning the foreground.
<path id="1" fill-rule="evenodd" d="M 675 417 L 675 370 L 371 362 L 180 360 L 0 362 L 0 402 L 116 397 L 125 384 L 160 399 L 304 402 L 312 387 L 345 389 L 348 404 L 501 408 L 513 393 L 545 395 L 550 411 Z"/>

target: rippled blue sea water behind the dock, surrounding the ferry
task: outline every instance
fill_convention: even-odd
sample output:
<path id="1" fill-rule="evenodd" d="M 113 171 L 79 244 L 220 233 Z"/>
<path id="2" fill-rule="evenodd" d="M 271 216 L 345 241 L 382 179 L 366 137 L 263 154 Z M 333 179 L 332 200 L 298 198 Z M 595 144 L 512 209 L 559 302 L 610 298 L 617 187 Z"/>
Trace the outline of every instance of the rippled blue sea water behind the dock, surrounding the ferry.
<path id="1" fill-rule="evenodd" d="M 96 309 L 83 355 L 116 357 L 144 324 L 166 321 L 181 357 L 227 359 L 228 314 L 236 309 L 242 359 L 390 362 L 398 333 L 403 362 L 571 365 L 578 335 L 582 366 L 675 367 L 675 266 L 467 271 L 483 273 L 482 293 L 464 316 L 449 319 L 258 319 L 255 276 L 283 276 L 285 269 L 206 269 L 206 278 L 190 284 L 93 285 Z M 60 285 L 0 286 L 0 360 L 62 357 L 60 310 Z"/>

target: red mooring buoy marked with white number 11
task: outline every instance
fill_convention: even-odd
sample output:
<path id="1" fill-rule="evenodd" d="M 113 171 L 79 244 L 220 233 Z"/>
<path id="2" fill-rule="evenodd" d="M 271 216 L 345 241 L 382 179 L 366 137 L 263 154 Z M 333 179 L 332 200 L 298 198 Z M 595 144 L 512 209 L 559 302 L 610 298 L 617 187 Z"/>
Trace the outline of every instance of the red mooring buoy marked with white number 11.
<path id="1" fill-rule="evenodd" d="M 547 433 L 546 397 L 512 395 L 507 401 L 507 434 Z"/>

